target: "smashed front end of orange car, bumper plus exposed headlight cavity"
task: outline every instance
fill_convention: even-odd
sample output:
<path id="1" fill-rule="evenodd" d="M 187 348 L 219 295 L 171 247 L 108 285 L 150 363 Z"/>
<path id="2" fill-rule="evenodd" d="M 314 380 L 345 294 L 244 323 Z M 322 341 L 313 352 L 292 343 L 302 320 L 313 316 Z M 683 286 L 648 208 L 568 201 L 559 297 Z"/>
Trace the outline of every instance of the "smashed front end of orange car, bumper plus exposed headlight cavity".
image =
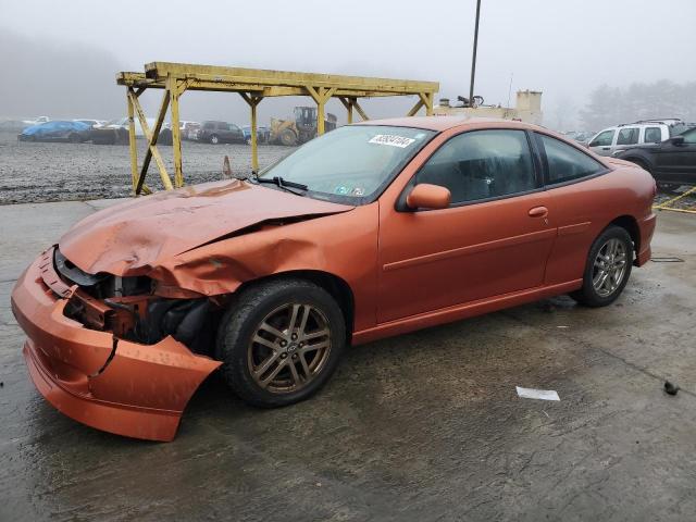
<path id="1" fill-rule="evenodd" d="M 12 309 L 39 391 L 111 433 L 171 440 L 200 383 L 222 303 L 146 276 L 88 274 L 53 247 L 17 282 Z"/>

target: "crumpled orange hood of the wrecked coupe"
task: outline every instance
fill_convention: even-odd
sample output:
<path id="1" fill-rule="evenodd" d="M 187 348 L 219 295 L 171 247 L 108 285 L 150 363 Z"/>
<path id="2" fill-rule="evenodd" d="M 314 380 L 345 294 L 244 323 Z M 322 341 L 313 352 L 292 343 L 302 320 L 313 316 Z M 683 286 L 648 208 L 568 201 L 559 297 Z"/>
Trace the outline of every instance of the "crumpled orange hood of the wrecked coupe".
<path id="1" fill-rule="evenodd" d="M 96 212 L 73 226 L 59 248 L 91 274 L 144 275 L 162 260 L 265 221 L 351 209 L 237 179 L 207 183 Z"/>

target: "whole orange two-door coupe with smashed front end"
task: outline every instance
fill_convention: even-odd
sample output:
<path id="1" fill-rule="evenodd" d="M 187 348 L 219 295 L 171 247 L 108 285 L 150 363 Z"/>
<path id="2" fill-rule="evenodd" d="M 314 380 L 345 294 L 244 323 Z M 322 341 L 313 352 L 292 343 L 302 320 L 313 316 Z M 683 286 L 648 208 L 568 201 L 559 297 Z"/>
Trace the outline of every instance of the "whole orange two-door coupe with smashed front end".
<path id="1" fill-rule="evenodd" d="M 601 307 L 650 257 L 655 182 L 540 127 L 348 125 L 247 179 L 77 223 L 12 294 L 39 391 L 112 433 L 174 437 L 215 369 L 289 405 L 349 344 L 569 293 Z"/>

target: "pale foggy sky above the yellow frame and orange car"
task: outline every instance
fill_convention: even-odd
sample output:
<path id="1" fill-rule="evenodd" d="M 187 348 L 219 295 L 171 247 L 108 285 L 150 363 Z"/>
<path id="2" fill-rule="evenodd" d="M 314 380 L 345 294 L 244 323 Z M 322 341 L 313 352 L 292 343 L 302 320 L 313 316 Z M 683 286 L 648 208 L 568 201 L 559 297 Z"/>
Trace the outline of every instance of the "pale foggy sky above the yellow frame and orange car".
<path id="1" fill-rule="evenodd" d="M 122 116 L 116 72 L 151 61 L 437 80 L 438 98 L 469 91 L 475 0 L 0 0 L 0 117 Z M 695 80 L 695 21 L 693 0 L 483 0 L 475 91 L 507 104 L 510 91 L 514 103 L 518 89 L 542 90 L 545 124 L 571 128 L 601 85 Z M 151 114 L 160 96 L 145 95 Z M 264 100 L 261 122 L 309 102 Z M 380 117 L 413 102 L 364 107 Z M 343 117 L 338 102 L 328 110 Z M 185 94 L 182 119 L 208 117 L 244 124 L 248 108 L 235 95 Z"/>

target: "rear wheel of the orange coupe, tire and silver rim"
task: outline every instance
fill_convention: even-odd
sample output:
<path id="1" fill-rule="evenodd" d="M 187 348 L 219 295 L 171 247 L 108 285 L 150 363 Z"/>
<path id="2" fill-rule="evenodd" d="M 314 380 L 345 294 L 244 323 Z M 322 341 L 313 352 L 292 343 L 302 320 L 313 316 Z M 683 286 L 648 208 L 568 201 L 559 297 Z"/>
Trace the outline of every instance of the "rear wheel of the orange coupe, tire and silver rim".
<path id="1" fill-rule="evenodd" d="M 632 265 L 631 235 L 625 228 L 609 226 L 589 249 L 582 288 L 570 296 L 587 307 L 611 304 L 626 286 Z"/>

